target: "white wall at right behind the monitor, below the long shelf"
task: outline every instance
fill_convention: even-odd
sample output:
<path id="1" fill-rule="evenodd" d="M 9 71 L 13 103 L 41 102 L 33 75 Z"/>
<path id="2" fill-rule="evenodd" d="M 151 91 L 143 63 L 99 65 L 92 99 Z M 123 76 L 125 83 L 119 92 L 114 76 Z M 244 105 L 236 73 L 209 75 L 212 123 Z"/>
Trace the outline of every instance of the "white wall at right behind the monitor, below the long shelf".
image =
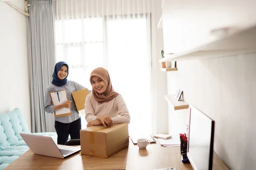
<path id="1" fill-rule="evenodd" d="M 185 102 L 215 120 L 214 151 L 232 170 L 256 169 L 255 65 L 256 53 L 178 61 L 178 71 L 167 76 L 168 93 L 183 89 Z M 180 117 L 170 124 L 186 122 L 188 114 L 170 109 Z"/>

